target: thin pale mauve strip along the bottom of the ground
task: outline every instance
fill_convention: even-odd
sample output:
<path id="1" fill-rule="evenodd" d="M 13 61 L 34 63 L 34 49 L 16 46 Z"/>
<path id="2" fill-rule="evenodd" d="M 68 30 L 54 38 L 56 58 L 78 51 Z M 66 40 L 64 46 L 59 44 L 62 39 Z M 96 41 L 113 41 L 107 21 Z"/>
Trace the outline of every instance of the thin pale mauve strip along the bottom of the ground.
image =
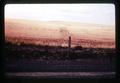
<path id="1" fill-rule="evenodd" d="M 115 72 L 12 72 L 8 78 L 115 78 Z"/>

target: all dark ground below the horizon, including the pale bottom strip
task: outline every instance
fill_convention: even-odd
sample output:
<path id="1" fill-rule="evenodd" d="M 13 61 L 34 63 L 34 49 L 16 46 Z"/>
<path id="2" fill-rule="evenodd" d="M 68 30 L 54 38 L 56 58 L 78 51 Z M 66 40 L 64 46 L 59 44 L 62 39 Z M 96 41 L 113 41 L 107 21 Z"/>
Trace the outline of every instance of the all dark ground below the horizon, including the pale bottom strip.
<path id="1" fill-rule="evenodd" d="M 8 77 L 99 78 L 115 76 L 115 49 L 71 48 L 6 43 L 4 70 Z"/>

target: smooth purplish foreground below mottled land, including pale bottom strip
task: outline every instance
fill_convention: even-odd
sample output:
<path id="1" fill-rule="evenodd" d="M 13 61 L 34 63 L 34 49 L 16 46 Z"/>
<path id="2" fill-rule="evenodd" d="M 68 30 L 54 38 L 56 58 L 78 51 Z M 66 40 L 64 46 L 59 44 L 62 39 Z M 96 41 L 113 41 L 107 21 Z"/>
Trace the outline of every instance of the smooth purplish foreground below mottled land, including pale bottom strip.
<path id="1" fill-rule="evenodd" d="M 111 78 L 115 60 L 11 60 L 6 61 L 6 76 L 22 78 Z"/>

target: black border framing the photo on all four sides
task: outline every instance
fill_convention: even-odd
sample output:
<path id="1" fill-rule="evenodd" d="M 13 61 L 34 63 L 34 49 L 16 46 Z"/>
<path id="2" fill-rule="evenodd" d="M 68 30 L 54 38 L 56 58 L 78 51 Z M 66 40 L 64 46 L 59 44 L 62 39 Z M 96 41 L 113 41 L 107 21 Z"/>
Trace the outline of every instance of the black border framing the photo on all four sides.
<path id="1" fill-rule="evenodd" d="M 46 78 L 46 79 L 24 79 L 24 78 L 16 78 L 16 79 L 6 79 L 5 76 L 4 76 L 4 7 L 6 4 L 42 4 L 42 3 L 100 3 L 100 4 L 104 4 L 104 3 L 110 3 L 110 4 L 114 4 L 115 5 L 115 32 L 116 32 L 116 52 L 117 52 L 117 57 L 116 57 L 116 78 L 112 78 L 112 79 L 107 79 L 107 78 L 103 78 L 103 79 L 87 79 L 87 78 L 83 78 L 83 79 L 79 79 L 79 78 L 54 78 L 54 79 L 51 79 L 51 78 Z M 115 82 L 117 79 L 119 79 L 119 64 L 120 64 L 120 61 L 119 61 L 119 38 L 120 38 L 120 35 L 119 35 L 119 17 L 118 15 L 119 12 L 118 12 L 118 8 L 119 8 L 119 5 L 118 5 L 118 2 L 117 0 L 1 0 L 0 1 L 0 9 L 1 9 L 1 12 L 0 12 L 0 51 L 1 51 L 1 54 L 0 54 L 0 81 L 2 82 L 39 82 L 39 81 L 59 81 L 59 82 L 62 82 L 63 80 L 64 81 L 70 81 L 70 82 L 74 82 L 74 81 L 80 81 L 80 82 L 105 82 L 105 81 L 113 81 Z M 2 83 L 1 82 L 1 83 Z"/>

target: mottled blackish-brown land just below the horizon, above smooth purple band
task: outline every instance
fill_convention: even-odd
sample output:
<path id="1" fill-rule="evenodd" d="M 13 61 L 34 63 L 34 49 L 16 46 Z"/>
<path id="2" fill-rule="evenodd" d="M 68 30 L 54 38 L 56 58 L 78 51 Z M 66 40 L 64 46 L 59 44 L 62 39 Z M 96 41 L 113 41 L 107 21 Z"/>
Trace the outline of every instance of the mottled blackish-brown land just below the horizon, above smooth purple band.
<path id="1" fill-rule="evenodd" d="M 68 47 L 34 45 L 34 44 L 12 44 L 5 43 L 6 58 L 11 59 L 40 59 L 40 60 L 76 60 L 83 58 L 110 58 L 116 57 L 114 48 L 83 48 L 72 47 L 68 55 Z"/>

